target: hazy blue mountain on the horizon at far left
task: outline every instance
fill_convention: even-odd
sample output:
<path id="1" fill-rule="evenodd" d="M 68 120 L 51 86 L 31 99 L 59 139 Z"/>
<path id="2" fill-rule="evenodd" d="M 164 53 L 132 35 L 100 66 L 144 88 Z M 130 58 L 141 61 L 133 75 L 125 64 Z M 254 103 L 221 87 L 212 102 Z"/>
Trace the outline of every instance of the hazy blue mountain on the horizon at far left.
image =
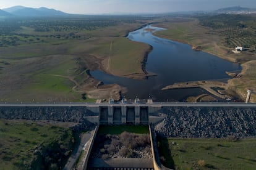
<path id="1" fill-rule="evenodd" d="M 71 15 L 60 10 L 48 9 L 46 7 L 31 8 L 14 6 L 3 10 L 18 17 L 67 17 Z"/>

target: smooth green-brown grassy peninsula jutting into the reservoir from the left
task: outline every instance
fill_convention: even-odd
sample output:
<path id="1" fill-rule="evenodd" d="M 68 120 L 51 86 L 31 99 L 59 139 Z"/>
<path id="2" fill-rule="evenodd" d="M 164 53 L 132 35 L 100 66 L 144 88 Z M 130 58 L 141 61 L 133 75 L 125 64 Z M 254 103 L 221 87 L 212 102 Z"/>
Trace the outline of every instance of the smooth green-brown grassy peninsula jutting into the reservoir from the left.
<path id="1" fill-rule="evenodd" d="M 140 62 L 143 61 L 145 51 L 149 49 L 147 44 L 123 37 L 106 39 L 97 44 L 100 46 L 91 54 L 106 59 L 105 71 L 118 76 L 143 73 Z"/>

